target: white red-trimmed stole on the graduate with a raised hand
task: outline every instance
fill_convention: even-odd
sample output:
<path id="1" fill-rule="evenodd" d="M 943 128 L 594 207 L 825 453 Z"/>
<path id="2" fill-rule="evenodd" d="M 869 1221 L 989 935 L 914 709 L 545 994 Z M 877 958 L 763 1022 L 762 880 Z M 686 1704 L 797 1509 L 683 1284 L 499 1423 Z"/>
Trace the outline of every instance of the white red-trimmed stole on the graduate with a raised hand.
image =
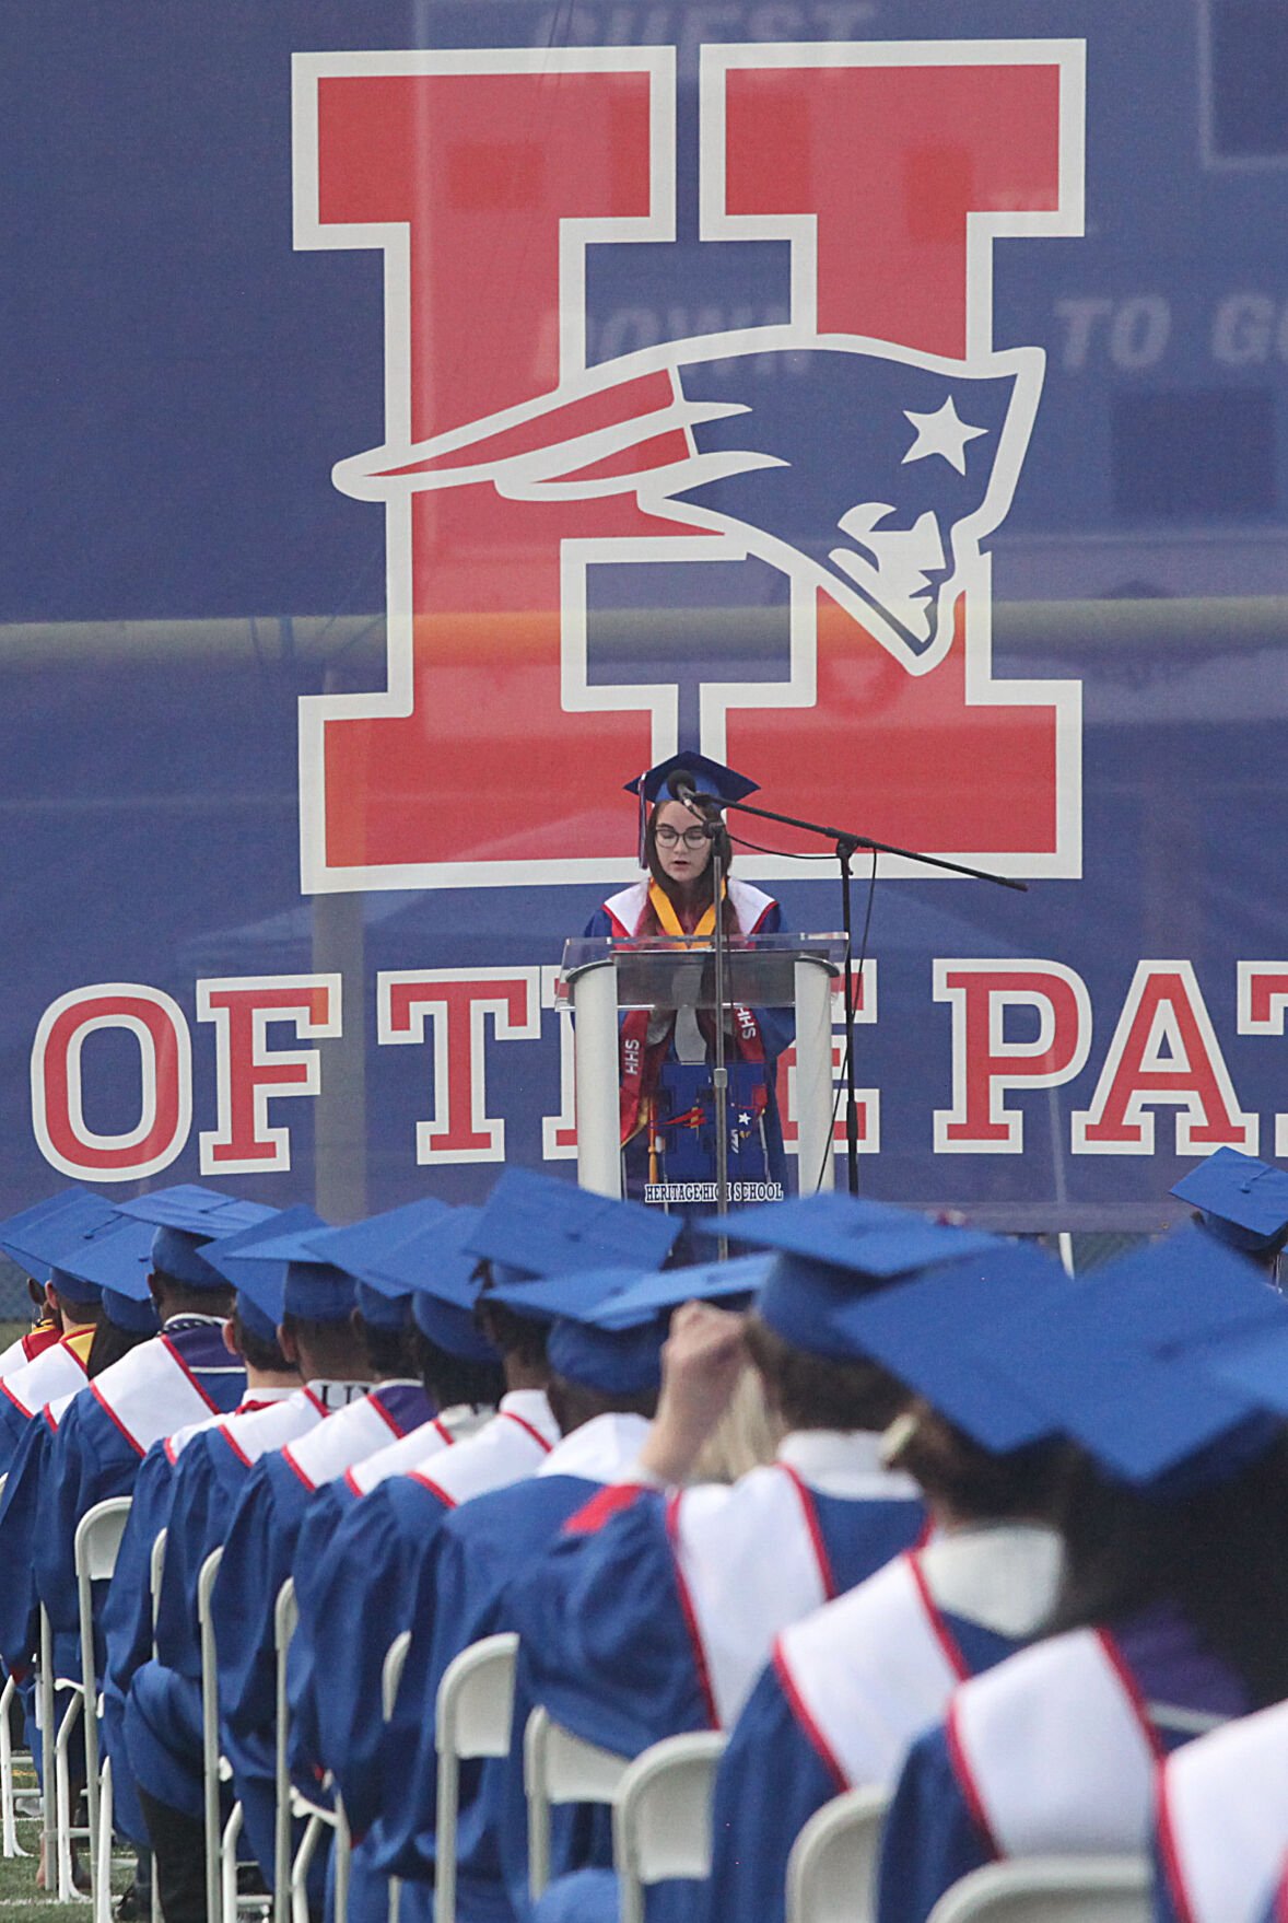
<path id="1" fill-rule="evenodd" d="M 675 1579 L 715 1729 L 732 1729 L 779 1631 L 836 1594 L 815 1492 L 850 1502 L 919 1494 L 911 1477 L 880 1465 L 877 1436 L 809 1429 L 732 1486 L 669 1498 Z"/>

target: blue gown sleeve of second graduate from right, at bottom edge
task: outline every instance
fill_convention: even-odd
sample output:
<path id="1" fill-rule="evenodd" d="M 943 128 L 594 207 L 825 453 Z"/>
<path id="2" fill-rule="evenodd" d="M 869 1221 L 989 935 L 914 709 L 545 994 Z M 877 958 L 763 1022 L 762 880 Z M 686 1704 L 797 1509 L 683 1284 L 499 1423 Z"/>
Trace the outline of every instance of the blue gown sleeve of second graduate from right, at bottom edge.
<path id="1" fill-rule="evenodd" d="M 957 1785 L 944 1725 L 907 1752 L 886 1815 L 877 1871 L 877 1923 L 925 1923 L 944 1890 L 992 1861 Z"/>

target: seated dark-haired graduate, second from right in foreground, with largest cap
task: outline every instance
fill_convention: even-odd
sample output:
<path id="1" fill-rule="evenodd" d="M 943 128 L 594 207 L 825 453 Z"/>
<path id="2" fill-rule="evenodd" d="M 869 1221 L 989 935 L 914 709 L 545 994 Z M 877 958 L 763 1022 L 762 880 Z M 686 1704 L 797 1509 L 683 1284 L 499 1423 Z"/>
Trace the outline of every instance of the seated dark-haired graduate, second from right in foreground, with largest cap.
<path id="1" fill-rule="evenodd" d="M 1138 1852 L 1157 1760 L 1288 1692 L 1288 1446 L 1209 1379 L 1223 1333 L 1288 1304 L 1200 1229 L 998 1327 L 990 1367 L 1078 1444 L 1048 1640 L 955 1690 L 884 1831 L 880 1923 L 923 1923 L 994 1858 Z"/>

